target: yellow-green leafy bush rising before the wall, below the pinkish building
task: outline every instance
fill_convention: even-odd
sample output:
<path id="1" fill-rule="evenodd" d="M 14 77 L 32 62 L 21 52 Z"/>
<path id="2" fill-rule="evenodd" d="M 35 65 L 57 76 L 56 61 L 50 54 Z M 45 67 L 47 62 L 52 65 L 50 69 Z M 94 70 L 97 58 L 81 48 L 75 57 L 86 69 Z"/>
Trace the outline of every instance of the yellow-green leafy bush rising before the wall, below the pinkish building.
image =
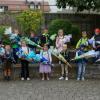
<path id="1" fill-rule="evenodd" d="M 43 16 L 40 10 L 27 10 L 20 13 L 16 19 L 21 30 L 28 34 L 30 31 L 38 32 L 43 21 Z"/>

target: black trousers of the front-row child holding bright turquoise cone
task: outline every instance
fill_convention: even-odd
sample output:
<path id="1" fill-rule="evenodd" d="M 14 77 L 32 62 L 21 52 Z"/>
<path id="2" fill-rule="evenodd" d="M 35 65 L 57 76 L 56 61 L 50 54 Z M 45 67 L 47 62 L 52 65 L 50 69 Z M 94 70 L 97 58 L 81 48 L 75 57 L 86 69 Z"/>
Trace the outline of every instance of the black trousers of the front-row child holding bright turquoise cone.
<path id="1" fill-rule="evenodd" d="M 26 60 L 21 60 L 21 77 L 28 78 L 29 77 L 29 62 Z"/>

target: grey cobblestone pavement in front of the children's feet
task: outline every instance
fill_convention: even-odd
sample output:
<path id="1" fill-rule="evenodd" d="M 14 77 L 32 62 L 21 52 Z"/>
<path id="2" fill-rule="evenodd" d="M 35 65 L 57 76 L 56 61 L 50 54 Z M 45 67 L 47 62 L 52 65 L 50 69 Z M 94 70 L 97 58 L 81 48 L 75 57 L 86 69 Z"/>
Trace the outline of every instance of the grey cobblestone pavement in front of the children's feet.
<path id="1" fill-rule="evenodd" d="M 0 100 L 100 100 L 100 80 L 1 81 Z"/>

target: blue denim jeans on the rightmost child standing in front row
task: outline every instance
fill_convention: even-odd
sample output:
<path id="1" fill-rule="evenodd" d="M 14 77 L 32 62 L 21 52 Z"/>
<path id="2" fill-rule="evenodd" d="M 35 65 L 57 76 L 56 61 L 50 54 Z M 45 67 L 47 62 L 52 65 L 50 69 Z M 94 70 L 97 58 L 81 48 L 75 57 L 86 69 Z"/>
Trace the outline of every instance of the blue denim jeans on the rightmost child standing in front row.
<path id="1" fill-rule="evenodd" d="M 86 63 L 78 63 L 78 76 L 77 78 L 82 79 L 84 78 L 85 75 L 85 68 L 86 68 Z"/>

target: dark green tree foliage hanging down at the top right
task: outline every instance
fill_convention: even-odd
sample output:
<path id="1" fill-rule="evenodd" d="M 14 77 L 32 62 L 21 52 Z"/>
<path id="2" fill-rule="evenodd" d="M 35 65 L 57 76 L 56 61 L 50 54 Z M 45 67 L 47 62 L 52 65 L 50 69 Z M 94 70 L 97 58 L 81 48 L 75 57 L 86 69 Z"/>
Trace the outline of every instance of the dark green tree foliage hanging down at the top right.
<path id="1" fill-rule="evenodd" d="M 76 7 L 77 11 L 98 10 L 100 9 L 100 0 L 56 0 L 58 8 L 66 6 Z"/>

